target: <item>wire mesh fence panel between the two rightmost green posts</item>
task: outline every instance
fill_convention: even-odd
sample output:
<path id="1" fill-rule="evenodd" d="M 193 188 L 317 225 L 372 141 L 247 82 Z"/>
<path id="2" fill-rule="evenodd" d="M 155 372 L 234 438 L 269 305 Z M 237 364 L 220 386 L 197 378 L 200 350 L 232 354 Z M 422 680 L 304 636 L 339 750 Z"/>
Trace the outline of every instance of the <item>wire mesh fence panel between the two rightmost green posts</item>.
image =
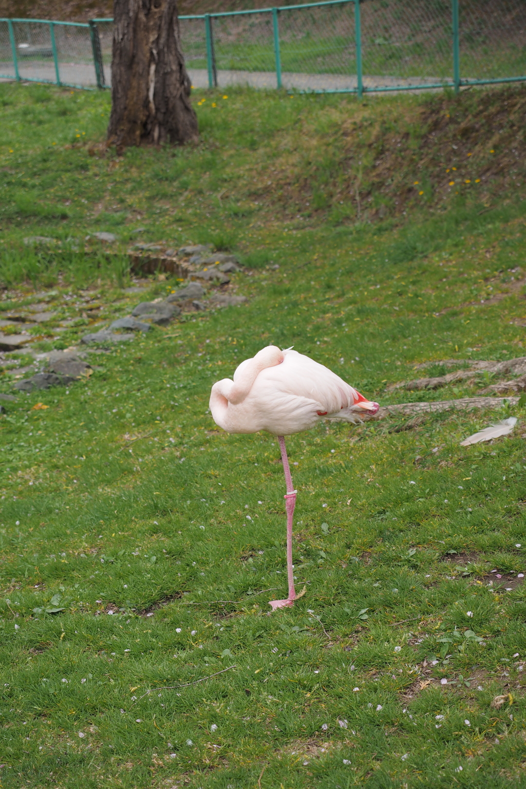
<path id="1" fill-rule="evenodd" d="M 369 0 L 360 9 L 364 88 L 452 82 L 451 0 Z"/>

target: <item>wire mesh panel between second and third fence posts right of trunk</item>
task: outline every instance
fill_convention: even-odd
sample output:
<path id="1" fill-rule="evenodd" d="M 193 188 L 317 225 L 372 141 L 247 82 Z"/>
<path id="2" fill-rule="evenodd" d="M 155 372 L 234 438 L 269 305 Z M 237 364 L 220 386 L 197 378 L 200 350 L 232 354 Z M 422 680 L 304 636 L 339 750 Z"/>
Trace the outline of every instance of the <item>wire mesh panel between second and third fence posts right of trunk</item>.
<path id="1" fill-rule="evenodd" d="M 356 88 L 354 2 L 283 9 L 278 21 L 285 88 Z"/>

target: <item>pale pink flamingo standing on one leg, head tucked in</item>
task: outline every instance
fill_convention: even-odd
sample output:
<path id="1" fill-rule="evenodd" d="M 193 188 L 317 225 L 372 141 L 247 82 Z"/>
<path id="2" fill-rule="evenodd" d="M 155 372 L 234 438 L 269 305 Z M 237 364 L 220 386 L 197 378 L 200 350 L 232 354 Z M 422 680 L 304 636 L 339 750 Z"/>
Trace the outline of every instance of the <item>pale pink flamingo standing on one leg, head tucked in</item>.
<path id="1" fill-rule="evenodd" d="M 289 595 L 270 600 L 273 611 L 294 604 L 293 514 L 297 491 L 293 488 L 285 436 L 308 430 L 322 419 L 360 422 L 360 413 L 375 414 L 377 402 L 364 398 L 336 373 L 292 348 L 267 346 L 241 362 L 233 380 L 214 384 L 210 410 L 215 424 L 229 433 L 267 430 L 278 437 L 285 473 L 287 515 L 287 577 Z"/>

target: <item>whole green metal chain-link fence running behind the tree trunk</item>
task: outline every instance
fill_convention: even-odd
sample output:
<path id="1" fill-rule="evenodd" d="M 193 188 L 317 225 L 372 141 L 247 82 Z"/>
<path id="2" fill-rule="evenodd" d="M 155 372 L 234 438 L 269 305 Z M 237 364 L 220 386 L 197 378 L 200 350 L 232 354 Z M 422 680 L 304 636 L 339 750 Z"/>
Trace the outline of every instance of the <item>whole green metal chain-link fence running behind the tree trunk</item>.
<path id="1" fill-rule="evenodd" d="M 526 81 L 526 0 L 326 0 L 179 17 L 197 88 L 315 93 Z M 109 88 L 112 19 L 0 19 L 0 77 Z"/>

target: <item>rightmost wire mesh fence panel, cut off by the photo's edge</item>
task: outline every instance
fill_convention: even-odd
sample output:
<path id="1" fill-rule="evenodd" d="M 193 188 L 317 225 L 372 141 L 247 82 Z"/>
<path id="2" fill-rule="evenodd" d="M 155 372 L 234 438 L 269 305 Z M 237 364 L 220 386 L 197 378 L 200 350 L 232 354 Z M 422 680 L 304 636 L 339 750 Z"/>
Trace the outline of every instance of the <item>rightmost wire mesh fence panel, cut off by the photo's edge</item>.
<path id="1" fill-rule="evenodd" d="M 461 79 L 526 76 L 526 2 L 461 0 Z"/>

